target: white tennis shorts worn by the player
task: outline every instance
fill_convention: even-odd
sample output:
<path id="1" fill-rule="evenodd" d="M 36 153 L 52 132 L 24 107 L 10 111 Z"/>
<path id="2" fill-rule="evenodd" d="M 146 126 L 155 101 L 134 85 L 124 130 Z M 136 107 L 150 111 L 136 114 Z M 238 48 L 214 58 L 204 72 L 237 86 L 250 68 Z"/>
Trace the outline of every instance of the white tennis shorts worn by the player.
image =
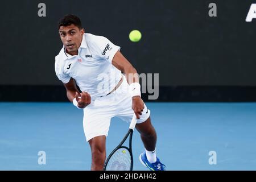
<path id="1" fill-rule="evenodd" d="M 123 75 L 122 75 L 123 76 Z M 129 93 L 129 84 L 123 76 L 122 84 L 108 96 L 91 101 L 84 109 L 84 133 L 86 141 L 105 135 L 108 136 L 111 118 L 118 117 L 123 121 L 131 122 L 134 111 L 131 109 L 132 98 Z M 144 105 L 141 118 L 137 123 L 142 123 L 150 117 L 150 110 Z"/>

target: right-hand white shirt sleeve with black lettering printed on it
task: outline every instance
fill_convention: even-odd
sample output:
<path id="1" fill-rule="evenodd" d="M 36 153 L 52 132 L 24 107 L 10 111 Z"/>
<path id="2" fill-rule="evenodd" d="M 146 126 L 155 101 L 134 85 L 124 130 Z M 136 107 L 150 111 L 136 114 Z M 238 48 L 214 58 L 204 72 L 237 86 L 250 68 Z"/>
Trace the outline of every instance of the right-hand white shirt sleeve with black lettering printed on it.
<path id="1" fill-rule="evenodd" d="M 120 50 L 119 46 L 115 46 L 109 39 L 105 38 L 104 36 L 96 36 L 96 47 L 98 48 L 98 52 L 101 54 L 101 57 L 105 60 L 112 63 L 112 59 Z"/>

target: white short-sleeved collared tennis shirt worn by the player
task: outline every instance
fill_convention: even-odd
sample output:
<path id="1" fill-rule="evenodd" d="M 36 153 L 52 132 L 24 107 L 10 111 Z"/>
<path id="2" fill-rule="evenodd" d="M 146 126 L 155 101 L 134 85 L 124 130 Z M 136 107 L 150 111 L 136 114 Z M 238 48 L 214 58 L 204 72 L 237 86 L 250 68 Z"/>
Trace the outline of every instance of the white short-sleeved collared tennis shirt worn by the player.
<path id="1" fill-rule="evenodd" d="M 78 55 L 68 55 L 65 47 L 55 57 L 55 72 L 59 80 L 67 84 L 72 77 L 81 91 L 93 99 L 105 96 L 118 84 L 121 71 L 112 64 L 119 46 L 104 36 L 84 34 Z"/>

